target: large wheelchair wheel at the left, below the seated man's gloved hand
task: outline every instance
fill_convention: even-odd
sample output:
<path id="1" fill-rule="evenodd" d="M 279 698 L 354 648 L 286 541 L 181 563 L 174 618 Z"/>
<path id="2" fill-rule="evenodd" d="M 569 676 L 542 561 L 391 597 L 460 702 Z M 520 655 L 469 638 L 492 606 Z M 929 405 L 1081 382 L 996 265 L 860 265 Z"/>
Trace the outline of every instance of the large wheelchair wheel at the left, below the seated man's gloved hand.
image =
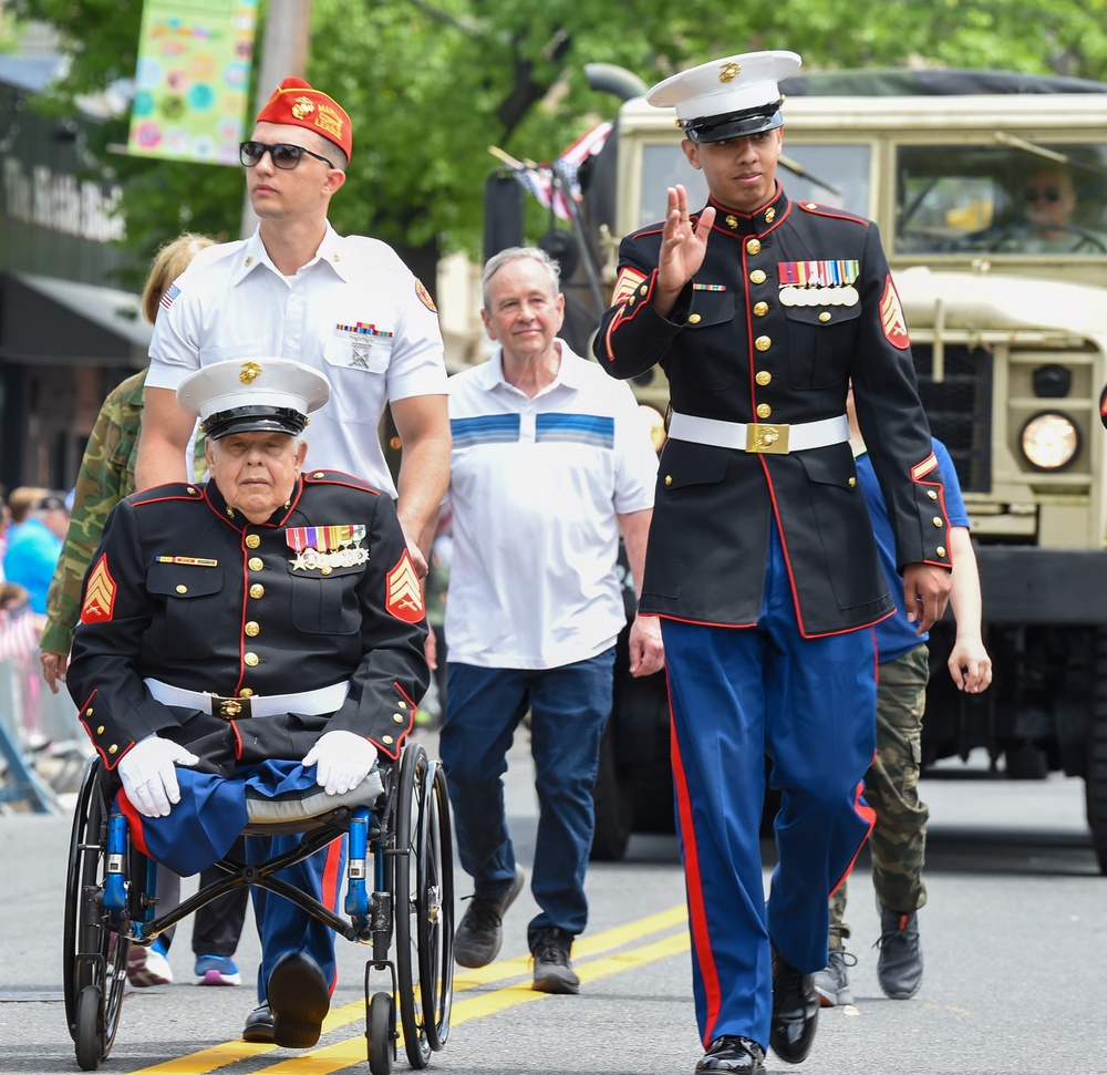
<path id="1" fill-rule="evenodd" d="M 85 766 L 73 812 L 62 934 L 65 1017 L 84 1071 L 94 1071 L 112 1051 L 131 948 L 112 932 L 104 911 L 106 827 L 103 766 L 94 757 Z"/>

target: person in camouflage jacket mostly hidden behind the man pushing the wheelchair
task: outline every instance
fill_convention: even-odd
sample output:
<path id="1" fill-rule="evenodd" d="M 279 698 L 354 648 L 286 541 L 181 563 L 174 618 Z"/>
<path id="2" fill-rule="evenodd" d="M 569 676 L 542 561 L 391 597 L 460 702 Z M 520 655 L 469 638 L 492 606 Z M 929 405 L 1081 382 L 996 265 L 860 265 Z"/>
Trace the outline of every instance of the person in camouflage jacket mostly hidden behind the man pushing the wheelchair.
<path id="1" fill-rule="evenodd" d="M 213 241 L 206 236 L 186 232 L 161 249 L 143 288 L 142 311 L 147 321 L 153 323 L 169 285 L 185 271 L 196 254 Z M 81 458 L 69 529 L 46 596 L 46 626 L 39 639 L 42 675 L 55 694 L 59 682 L 65 680 L 89 562 L 104 536 L 112 508 L 135 492 L 146 373 L 146 370 L 135 373 L 108 393 Z M 206 476 L 203 433 L 196 437 L 193 469 L 196 482 Z M 231 855 L 245 859 L 245 848 L 237 846 Z M 214 867 L 204 872 L 201 883 L 223 876 L 223 871 Z M 158 867 L 157 888 L 163 911 L 180 902 L 180 878 L 164 867 Z M 241 975 L 231 957 L 238 948 L 248 902 L 249 889 L 241 889 L 214 900 L 197 912 L 193 951 L 197 957 L 198 984 L 240 983 Z M 132 985 L 162 985 L 173 981 L 166 959 L 173 933 L 173 929 L 166 930 L 149 949 L 136 947 L 131 950 L 127 978 Z"/>

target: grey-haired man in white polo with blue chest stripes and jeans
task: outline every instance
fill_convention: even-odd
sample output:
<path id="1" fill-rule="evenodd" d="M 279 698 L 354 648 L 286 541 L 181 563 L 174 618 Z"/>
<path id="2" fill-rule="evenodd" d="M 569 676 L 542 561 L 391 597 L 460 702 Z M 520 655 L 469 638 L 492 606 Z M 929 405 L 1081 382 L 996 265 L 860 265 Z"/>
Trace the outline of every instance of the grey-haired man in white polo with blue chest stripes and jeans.
<path id="1" fill-rule="evenodd" d="M 475 889 L 454 955 L 483 967 L 499 951 L 504 912 L 524 882 L 501 777 L 515 730 L 531 714 L 540 810 L 531 891 L 540 911 L 527 940 L 534 988 L 548 993 L 580 984 L 569 954 L 588 919 L 591 787 L 627 622 L 619 530 L 637 591 L 658 469 L 630 389 L 557 339 L 563 311 L 558 267 L 542 250 L 496 255 L 485 267 L 482 317 L 500 347 L 448 381 L 454 541 L 439 743 Z M 635 617 L 631 672 L 663 663 L 656 619 Z"/>

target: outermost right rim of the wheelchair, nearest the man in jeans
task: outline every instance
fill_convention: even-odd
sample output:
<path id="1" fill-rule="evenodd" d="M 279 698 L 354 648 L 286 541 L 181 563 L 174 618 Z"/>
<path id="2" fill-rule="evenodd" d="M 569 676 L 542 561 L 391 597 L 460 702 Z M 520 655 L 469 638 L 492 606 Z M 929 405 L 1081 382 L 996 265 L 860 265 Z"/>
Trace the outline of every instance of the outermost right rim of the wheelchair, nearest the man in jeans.
<path id="1" fill-rule="evenodd" d="M 416 854 L 416 936 L 426 1036 L 437 1051 L 449 1035 L 454 995 L 454 848 L 446 774 L 431 762 L 423 777 Z"/>

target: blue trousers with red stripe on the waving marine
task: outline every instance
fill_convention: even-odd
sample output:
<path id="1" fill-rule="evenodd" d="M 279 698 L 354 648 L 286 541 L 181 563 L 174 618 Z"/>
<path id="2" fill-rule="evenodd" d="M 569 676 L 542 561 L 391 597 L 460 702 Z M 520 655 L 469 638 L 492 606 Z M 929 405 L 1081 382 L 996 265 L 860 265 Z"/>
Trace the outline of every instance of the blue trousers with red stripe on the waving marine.
<path id="1" fill-rule="evenodd" d="M 800 634 L 774 527 L 755 627 L 663 619 L 662 635 L 701 1037 L 766 1046 L 770 943 L 805 973 L 826 965 L 827 896 L 871 829 L 860 795 L 876 750 L 872 631 Z M 767 902 L 766 756 L 782 793 Z"/>

